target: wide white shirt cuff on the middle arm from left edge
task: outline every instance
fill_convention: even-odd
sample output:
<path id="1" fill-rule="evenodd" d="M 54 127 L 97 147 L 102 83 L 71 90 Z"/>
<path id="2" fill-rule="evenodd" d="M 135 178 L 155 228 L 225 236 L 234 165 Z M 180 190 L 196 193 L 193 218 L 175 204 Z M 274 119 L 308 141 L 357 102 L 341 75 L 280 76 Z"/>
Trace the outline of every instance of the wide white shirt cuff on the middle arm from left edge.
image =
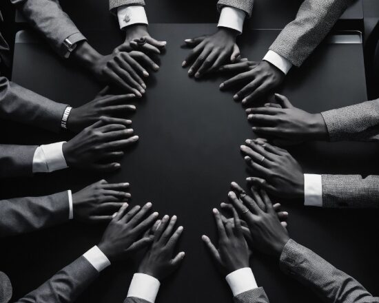
<path id="1" fill-rule="evenodd" d="M 50 173 L 67 168 L 62 145 L 65 142 L 52 143 L 37 147 L 33 156 L 33 173 Z"/>

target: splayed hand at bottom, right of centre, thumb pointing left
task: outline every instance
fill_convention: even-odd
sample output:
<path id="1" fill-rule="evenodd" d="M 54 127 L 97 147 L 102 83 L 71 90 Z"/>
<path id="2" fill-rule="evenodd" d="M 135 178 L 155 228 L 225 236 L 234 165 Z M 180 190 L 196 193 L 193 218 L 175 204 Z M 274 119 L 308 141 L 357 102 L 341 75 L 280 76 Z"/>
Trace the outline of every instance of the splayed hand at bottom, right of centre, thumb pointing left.
<path id="1" fill-rule="evenodd" d="M 250 252 L 236 211 L 233 209 L 234 224 L 229 221 L 223 224 L 218 209 L 213 209 L 218 231 L 218 249 L 207 236 L 203 236 L 209 253 L 220 267 L 223 274 L 228 275 L 238 269 L 249 267 Z"/>

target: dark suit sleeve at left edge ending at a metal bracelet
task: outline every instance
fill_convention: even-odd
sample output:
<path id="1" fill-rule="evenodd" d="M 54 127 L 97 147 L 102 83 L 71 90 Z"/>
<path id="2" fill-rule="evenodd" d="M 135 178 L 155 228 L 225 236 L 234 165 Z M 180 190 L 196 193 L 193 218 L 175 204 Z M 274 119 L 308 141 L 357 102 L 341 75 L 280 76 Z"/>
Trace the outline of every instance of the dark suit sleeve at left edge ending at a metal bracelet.
<path id="1" fill-rule="evenodd" d="M 59 132 L 68 105 L 57 103 L 0 77 L 0 118 Z"/>

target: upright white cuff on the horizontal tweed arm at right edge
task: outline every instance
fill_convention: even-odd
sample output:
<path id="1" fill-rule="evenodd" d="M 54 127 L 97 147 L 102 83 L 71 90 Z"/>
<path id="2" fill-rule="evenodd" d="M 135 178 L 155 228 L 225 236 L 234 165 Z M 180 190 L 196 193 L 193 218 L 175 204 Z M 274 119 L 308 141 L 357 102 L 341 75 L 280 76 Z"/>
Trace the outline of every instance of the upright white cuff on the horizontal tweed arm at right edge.
<path id="1" fill-rule="evenodd" d="M 322 207 L 321 175 L 304 174 L 304 205 Z"/>

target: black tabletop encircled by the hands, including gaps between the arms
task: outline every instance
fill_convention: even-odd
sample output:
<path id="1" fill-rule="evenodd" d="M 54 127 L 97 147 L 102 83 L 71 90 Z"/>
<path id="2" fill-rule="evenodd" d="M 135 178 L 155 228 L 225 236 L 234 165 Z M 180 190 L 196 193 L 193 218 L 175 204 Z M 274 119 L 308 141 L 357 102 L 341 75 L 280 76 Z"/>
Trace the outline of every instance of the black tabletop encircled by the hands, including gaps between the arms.
<path id="1" fill-rule="evenodd" d="M 43 195 L 80 189 L 105 177 L 127 181 L 132 204 L 152 201 L 161 215 L 178 216 L 185 229 L 179 248 L 187 252 L 181 269 L 163 281 L 157 302 L 232 302 L 228 286 L 207 254 L 203 233 L 215 239 L 212 207 L 227 200 L 231 181 L 245 186 L 248 176 L 239 146 L 253 138 L 245 112 L 232 92 L 218 90 L 222 77 L 194 81 L 181 62 L 183 39 L 202 34 L 214 24 L 152 24 L 151 32 L 167 40 L 161 70 L 151 76 L 146 96 L 136 101 L 132 117 L 139 134 L 115 174 L 96 176 L 59 171 L 30 179 L 5 180 L 6 196 Z M 112 32 L 87 32 L 96 48 L 107 52 L 122 39 Z M 243 53 L 259 60 L 278 30 L 255 30 L 241 41 Z M 90 100 L 101 85 L 57 59 L 42 43 L 17 43 L 13 81 L 56 101 L 77 106 Z M 365 71 L 360 44 L 325 43 L 298 70 L 292 70 L 283 90 L 295 105 L 311 112 L 365 101 Z M 6 128 L 4 128 L 6 127 Z M 6 142 L 50 143 L 54 135 L 32 127 L 4 126 Z M 290 149 L 307 173 L 378 174 L 378 145 L 373 143 L 309 143 Z M 354 275 L 369 291 L 379 284 L 378 211 L 305 208 L 301 201 L 280 201 L 289 211 L 291 238 Z M 0 268 L 10 275 L 14 298 L 39 286 L 56 271 L 96 244 L 103 226 L 70 222 L 60 227 L 3 240 Z M 79 302 L 122 302 L 136 270 L 128 261 L 105 270 Z M 271 302 L 318 302 L 318 298 L 280 273 L 278 261 L 254 253 L 252 269 Z"/>

